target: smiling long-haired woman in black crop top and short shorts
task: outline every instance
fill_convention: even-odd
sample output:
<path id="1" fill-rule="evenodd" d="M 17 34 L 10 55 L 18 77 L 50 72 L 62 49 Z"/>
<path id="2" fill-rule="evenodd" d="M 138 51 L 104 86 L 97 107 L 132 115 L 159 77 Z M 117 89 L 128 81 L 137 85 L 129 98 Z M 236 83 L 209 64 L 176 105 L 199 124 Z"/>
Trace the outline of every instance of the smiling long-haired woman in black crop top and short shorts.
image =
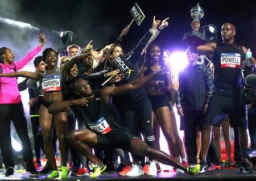
<path id="1" fill-rule="evenodd" d="M 151 74 L 164 68 L 164 66 L 166 65 L 163 60 L 162 47 L 159 44 L 151 44 L 147 48 L 144 65 L 139 76 Z M 166 92 L 170 94 L 171 90 L 177 91 L 179 85 L 176 80 L 172 73 L 165 76 L 159 75 L 147 84 L 146 91 L 150 97 L 156 120 L 158 120 L 168 145 L 170 145 L 171 153 L 177 161 L 179 161 L 179 156 L 185 161 L 183 144 L 177 133 L 175 116 L 171 113 L 170 103 L 166 96 Z"/>

